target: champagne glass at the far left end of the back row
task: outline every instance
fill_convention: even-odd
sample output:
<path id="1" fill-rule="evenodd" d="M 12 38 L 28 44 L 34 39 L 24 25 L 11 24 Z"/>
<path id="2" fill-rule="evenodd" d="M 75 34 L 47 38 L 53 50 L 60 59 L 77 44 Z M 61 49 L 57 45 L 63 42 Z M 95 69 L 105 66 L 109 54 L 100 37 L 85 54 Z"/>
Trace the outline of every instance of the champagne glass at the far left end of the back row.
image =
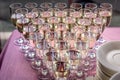
<path id="1" fill-rule="evenodd" d="M 17 14 L 15 11 L 16 9 L 19 9 L 22 7 L 22 3 L 12 3 L 10 4 L 10 16 L 11 16 L 11 22 L 13 23 L 14 26 L 16 26 L 16 20 L 18 18 L 23 17 L 24 15 L 22 14 Z"/>

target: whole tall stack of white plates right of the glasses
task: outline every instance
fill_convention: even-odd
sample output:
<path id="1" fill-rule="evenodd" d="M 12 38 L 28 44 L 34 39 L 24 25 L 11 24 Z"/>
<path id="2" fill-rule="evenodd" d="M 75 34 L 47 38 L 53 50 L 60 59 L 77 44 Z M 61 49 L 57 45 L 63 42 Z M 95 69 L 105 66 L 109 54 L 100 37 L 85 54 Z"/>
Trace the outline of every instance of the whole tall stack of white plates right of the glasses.
<path id="1" fill-rule="evenodd" d="M 104 43 L 97 50 L 97 80 L 109 80 L 120 72 L 120 41 Z"/>

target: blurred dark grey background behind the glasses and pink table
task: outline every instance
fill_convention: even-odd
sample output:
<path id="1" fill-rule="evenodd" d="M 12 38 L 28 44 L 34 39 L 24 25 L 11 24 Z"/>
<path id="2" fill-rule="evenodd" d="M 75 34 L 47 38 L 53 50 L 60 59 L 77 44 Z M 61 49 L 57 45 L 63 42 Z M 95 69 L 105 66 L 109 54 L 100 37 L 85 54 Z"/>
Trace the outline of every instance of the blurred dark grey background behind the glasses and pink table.
<path id="1" fill-rule="evenodd" d="M 85 3 L 111 3 L 113 5 L 113 16 L 110 27 L 120 27 L 120 0 L 0 0 L 0 50 L 2 50 L 5 42 L 10 37 L 13 30 L 15 30 L 15 26 L 10 21 L 10 11 L 9 5 L 15 2 L 27 3 L 27 2 L 36 2 L 37 4 L 41 4 L 43 2 L 66 2 L 70 4 L 72 2 Z"/>

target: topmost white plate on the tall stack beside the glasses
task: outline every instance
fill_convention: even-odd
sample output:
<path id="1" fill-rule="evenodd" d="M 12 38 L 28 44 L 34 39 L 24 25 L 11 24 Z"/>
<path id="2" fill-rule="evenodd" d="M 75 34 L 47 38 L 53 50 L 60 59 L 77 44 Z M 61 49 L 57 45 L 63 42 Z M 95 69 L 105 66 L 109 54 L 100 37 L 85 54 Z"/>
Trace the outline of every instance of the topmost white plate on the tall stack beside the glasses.
<path id="1" fill-rule="evenodd" d="M 110 41 L 99 47 L 97 60 L 113 72 L 120 72 L 120 41 Z"/>

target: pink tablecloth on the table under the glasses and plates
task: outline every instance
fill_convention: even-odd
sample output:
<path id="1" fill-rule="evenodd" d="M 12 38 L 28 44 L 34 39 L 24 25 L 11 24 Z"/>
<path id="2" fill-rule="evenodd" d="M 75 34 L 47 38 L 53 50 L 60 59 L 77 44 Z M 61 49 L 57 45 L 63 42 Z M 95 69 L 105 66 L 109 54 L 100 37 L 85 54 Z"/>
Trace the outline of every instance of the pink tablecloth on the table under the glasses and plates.
<path id="1" fill-rule="evenodd" d="M 107 41 L 120 40 L 120 28 L 106 28 L 101 36 Z M 15 30 L 0 55 L 0 80 L 37 80 L 37 74 L 13 41 L 20 36 Z"/>

